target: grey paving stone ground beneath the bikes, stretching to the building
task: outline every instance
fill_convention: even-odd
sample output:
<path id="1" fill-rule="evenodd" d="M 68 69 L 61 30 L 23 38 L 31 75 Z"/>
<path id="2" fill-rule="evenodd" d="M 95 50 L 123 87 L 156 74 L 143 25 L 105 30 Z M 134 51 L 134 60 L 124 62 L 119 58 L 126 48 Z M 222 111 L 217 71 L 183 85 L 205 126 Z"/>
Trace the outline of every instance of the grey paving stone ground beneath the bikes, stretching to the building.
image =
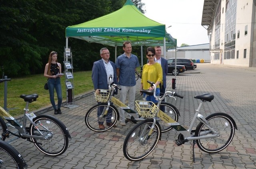
<path id="1" fill-rule="evenodd" d="M 23 139 L 10 142 L 24 157 L 28 169 L 254 169 L 256 168 L 256 68 L 228 67 L 197 63 L 197 69 L 186 71 L 176 77 L 176 89 L 172 90 L 172 78 L 167 76 L 167 90 L 176 91 L 184 98 L 168 98 L 167 102 L 180 111 L 179 123 L 189 126 L 199 100 L 197 94 L 214 94 L 214 100 L 201 108 L 201 114 L 225 112 L 236 121 L 238 130 L 230 145 L 219 153 L 208 154 L 195 147 L 195 163 L 192 162 L 192 141 L 177 146 L 178 133 L 174 130 L 163 133 L 154 151 L 141 161 L 128 161 L 122 147 L 126 134 L 134 126 L 128 123 L 106 132 L 93 132 L 87 128 L 84 116 L 96 104 L 91 93 L 75 100 L 76 108 L 62 108 L 62 114 L 41 109 L 59 118 L 68 128 L 72 139 L 66 152 L 57 157 L 41 153 L 33 143 Z M 140 80 L 138 80 L 139 82 Z M 136 100 L 140 83 L 137 83 Z M 117 96 L 119 98 L 119 96 Z M 33 103 L 30 104 L 30 109 Z"/>

